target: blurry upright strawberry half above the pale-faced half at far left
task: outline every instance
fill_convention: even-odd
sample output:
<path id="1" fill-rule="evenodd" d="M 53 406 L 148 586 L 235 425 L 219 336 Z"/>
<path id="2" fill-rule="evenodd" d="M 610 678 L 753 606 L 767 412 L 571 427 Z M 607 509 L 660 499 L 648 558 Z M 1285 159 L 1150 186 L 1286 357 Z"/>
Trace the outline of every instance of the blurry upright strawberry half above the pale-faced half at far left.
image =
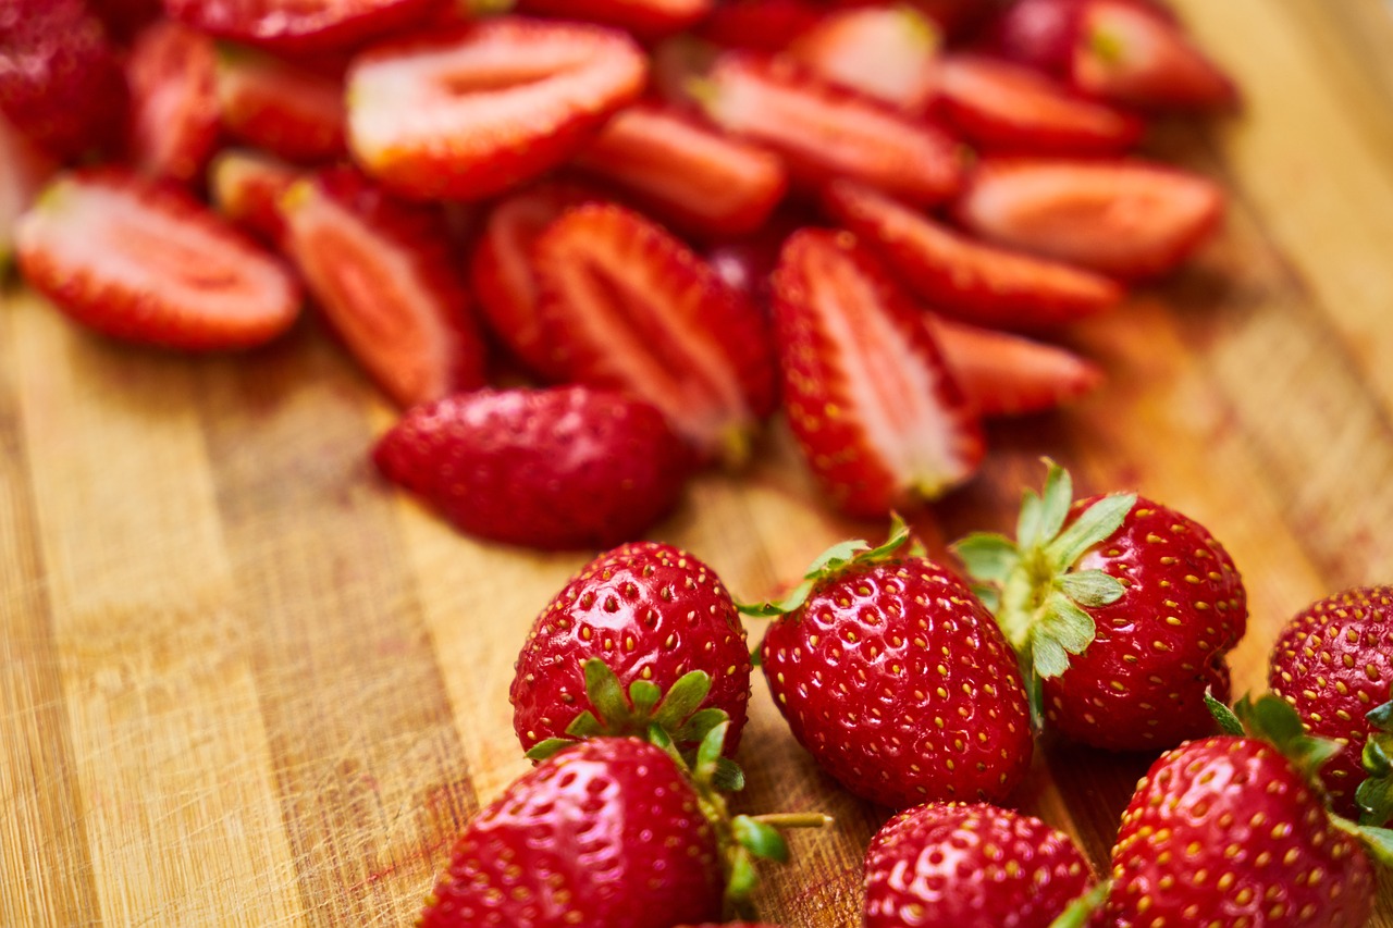
<path id="1" fill-rule="evenodd" d="M 138 36 L 125 64 L 131 157 L 152 177 L 191 184 L 217 146 L 213 40 L 160 20 Z"/>

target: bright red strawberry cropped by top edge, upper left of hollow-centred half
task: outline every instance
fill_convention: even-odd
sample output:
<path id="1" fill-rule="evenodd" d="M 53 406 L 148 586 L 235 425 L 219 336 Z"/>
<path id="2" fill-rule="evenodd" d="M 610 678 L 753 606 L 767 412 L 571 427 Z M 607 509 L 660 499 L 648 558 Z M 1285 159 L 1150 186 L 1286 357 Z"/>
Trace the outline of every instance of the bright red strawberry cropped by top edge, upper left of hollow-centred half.
<path id="1" fill-rule="evenodd" d="M 287 54 L 350 49 L 419 22 L 440 0 L 164 0 L 188 25 Z"/>

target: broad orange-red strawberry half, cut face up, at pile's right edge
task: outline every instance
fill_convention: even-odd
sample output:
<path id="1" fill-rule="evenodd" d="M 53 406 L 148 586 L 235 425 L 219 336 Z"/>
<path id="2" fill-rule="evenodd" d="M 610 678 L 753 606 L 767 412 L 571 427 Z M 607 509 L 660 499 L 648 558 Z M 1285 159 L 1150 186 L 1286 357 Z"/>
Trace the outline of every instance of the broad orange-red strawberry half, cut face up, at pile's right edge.
<path id="1" fill-rule="evenodd" d="M 1223 219 L 1213 183 L 1144 162 L 986 160 L 957 202 L 990 241 L 1119 277 L 1173 270 Z"/>

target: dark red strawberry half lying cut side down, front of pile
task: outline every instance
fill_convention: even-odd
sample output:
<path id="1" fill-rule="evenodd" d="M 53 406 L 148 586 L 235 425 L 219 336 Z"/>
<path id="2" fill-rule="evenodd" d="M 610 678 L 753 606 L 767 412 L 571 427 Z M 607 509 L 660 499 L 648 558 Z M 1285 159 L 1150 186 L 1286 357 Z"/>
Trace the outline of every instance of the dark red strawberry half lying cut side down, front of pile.
<path id="1" fill-rule="evenodd" d="M 637 536 L 673 509 L 690 471 L 655 408 L 578 386 L 417 407 L 373 458 L 464 531 L 543 549 Z"/>

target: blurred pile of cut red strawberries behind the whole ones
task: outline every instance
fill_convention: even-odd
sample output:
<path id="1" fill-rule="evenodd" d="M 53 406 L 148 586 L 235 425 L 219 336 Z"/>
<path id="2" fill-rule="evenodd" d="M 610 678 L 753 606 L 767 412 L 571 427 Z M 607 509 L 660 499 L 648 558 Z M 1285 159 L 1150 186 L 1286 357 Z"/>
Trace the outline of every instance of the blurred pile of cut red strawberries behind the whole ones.
<path id="1" fill-rule="evenodd" d="M 950 490 L 981 417 L 1099 385 L 1042 339 L 1222 219 L 1128 156 L 1237 105 L 1153 0 L 497 7 L 10 0 L 0 252 L 169 348 L 266 343 L 308 295 L 411 410 L 390 478 L 573 548 L 780 407 L 847 513 Z"/>

